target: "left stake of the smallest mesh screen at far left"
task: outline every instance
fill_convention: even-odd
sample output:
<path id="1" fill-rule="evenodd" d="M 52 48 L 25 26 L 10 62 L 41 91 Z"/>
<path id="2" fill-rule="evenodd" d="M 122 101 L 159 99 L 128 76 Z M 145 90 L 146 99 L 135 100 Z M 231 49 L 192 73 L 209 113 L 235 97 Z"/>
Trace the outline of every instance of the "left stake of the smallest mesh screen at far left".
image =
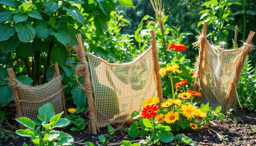
<path id="1" fill-rule="evenodd" d="M 13 68 L 8 68 L 7 69 L 8 75 L 10 77 L 10 82 L 11 83 L 15 83 L 15 73 L 13 72 Z M 22 107 L 21 107 L 21 103 L 19 102 L 19 90 L 17 88 L 15 88 L 14 86 L 12 87 L 13 90 L 13 99 L 16 105 L 16 109 L 17 109 L 17 118 L 22 117 Z M 22 126 L 21 124 L 19 124 L 19 128 L 20 129 L 25 129 L 24 126 Z"/>

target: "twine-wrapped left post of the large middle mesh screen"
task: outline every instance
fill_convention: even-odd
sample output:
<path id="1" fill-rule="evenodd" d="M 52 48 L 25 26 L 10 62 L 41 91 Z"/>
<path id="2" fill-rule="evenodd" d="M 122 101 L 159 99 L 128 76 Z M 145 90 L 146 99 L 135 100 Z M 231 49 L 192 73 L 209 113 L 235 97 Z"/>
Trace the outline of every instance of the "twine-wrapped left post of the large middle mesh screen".
<path id="1" fill-rule="evenodd" d="M 88 123 L 89 133 L 97 134 L 97 131 L 100 131 L 100 130 L 97 124 L 96 104 L 93 101 L 93 97 L 92 97 L 92 85 L 90 83 L 88 62 L 86 61 L 86 57 L 85 57 L 86 53 L 82 43 L 81 34 L 77 34 L 76 37 L 77 37 L 78 46 L 74 46 L 73 49 L 77 53 L 77 58 L 80 60 L 80 64 L 77 66 L 77 69 L 76 69 L 76 79 L 80 87 L 83 88 L 83 90 L 85 90 L 85 94 L 88 101 L 87 111 L 89 111 L 89 118 L 90 118 Z M 84 85 L 81 85 L 79 83 L 78 75 L 83 77 Z"/>

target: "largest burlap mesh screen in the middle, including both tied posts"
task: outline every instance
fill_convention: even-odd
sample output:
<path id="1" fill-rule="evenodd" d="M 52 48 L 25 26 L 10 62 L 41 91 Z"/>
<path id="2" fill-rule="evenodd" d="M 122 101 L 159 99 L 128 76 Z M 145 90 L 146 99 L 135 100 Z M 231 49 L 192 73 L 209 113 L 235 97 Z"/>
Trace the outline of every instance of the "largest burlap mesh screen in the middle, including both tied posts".
<path id="1" fill-rule="evenodd" d="M 85 83 L 81 88 L 86 91 L 88 100 L 89 132 L 96 134 L 99 128 L 108 124 L 130 121 L 131 113 L 141 112 L 142 102 L 149 97 L 159 96 L 162 100 L 153 31 L 152 37 L 151 47 L 132 62 L 108 63 L 91 53 L 85 53 L 81 36 L 77 36 L 78 47 L 74 47 L 74 50 L 81 61 L 77 74 L 83 77 Z"/>

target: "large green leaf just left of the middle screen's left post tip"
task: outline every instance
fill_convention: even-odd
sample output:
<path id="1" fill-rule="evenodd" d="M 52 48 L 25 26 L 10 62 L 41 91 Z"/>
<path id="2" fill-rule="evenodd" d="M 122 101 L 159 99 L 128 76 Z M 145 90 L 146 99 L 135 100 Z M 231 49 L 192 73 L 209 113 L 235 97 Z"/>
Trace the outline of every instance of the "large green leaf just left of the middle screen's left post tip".
<path id="1" fill-rule="evenodd" d="M 56 39 L 65 46 L 71 41 L 72 38 L 67 29 L 58 29 L 57 32 L 51 31 L 51 35 L 54 35 Z"/>

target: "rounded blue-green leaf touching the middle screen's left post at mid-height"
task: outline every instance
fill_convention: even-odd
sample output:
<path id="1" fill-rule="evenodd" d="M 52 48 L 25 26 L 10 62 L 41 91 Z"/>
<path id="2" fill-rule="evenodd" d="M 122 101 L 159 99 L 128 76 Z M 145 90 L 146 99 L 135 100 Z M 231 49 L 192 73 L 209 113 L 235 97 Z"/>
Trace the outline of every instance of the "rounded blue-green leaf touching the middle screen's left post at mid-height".
<path id="1" fill-rule="evenodd" d="M 74 87 L 71 90 L 71 94 L 73 95 L 73 102 L 76 106 L 85 107 L 87 103 L 87 99 L 85 98 L 85 91 L 81 90 L 78 87 Z"/>

